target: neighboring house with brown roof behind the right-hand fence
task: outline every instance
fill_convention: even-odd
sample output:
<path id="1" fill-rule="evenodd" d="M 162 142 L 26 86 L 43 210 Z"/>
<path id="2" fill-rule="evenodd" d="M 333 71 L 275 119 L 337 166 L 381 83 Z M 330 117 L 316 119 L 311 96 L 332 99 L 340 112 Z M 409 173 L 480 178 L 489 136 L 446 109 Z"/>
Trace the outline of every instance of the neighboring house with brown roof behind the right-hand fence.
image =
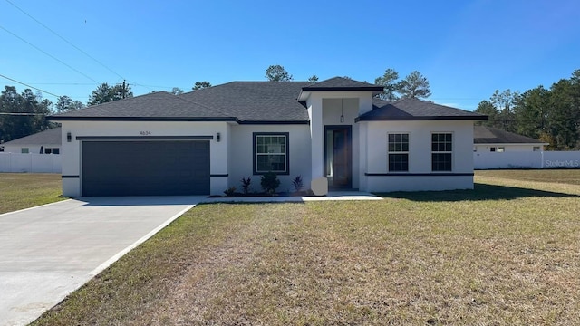
<path id="1" fill-rule="evenodd" d="M 473 128 L 474 152 L 544 151 L 548 143 L 506 130 L 485 126 Z"/>

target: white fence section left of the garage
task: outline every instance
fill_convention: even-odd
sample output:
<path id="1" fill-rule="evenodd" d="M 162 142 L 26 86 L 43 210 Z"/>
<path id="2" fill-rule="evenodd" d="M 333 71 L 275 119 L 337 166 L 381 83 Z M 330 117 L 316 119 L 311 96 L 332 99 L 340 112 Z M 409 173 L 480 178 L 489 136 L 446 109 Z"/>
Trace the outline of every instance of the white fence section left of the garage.
<path id="1" fill-rule="evenodd" d="M 0 152 L 0 172 L 61 173 L 61 156 Z"/>

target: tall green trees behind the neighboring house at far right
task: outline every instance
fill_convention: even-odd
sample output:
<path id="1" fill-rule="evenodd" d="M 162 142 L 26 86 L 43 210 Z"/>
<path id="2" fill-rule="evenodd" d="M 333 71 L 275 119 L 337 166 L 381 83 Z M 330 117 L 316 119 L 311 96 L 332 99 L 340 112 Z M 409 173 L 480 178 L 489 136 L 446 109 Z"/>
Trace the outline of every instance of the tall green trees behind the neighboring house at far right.
<path id="1" fill-rule="evenodd" d="M 479 102 L 481 124 L 515 132 L 548 143 L 547 150 L 580 149 L 580 70 L 546 89 L 540 85 L 524 92 L 496 90 Z"/>

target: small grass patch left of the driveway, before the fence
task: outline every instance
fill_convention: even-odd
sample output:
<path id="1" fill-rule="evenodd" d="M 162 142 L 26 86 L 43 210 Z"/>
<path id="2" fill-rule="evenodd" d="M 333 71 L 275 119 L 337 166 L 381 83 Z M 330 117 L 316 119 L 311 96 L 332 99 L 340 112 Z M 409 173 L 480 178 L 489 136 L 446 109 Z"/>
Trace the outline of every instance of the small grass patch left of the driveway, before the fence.
<path id="1" fill-rule="evenodd" d="M 0 173 L 0 214 L 63 200 L 60 174 Z"/>

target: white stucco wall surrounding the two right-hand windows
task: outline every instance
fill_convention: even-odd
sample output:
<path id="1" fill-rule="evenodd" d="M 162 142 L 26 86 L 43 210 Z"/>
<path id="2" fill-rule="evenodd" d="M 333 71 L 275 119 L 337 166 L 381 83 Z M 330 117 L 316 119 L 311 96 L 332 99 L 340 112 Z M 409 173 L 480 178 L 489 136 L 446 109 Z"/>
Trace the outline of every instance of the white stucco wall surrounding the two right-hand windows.
<path id="1" fill-rule="evenodd" d="M 365 191 L 417 191 L 473 188 L 473 121 L 361 121 L 361 146 L 366 156 L 361 157 L 360 188 Z M 437 176 L 431 171 L 431 134 L 453 134 L 452 171 L 445 174 L 469 176 Z M 409 171 L 401 174 L 422 176 L 364 176 L 388 174 L 387 134 L 409 133 Z"/>

